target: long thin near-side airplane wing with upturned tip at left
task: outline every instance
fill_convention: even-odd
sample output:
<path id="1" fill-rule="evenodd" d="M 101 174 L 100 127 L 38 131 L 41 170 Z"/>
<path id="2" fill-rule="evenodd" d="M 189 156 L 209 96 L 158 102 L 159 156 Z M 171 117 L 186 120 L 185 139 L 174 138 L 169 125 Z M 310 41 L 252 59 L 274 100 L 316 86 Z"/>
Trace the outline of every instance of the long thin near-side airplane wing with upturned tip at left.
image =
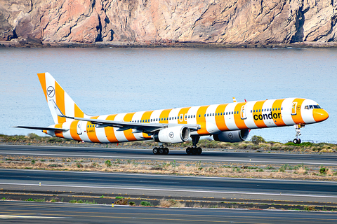
<path id="1" fill-rule="evenodd" d="M 184 126 L 190 128 L 190 130 L 199 130 L 200 125 L 180 125 L 180 124 L 163 124 L 163 123 L 133 123 L 133 122 L 126 122 L 126 121 L 117 121 L 117 120 L 100 120 L 100 119 L 92 119 L 92 118 L 77 118 L 77 117 L 70 117 L 65 116 L 58 106 L 54 104 L 54 109 L 56 111 L 56 114 L 60 116 L 61 118 L 70 118 L 73 120 L 83 120 L 88 121 L 93 124 L 99 125 L 98 127 L 119 127 L 117 131 L 125 131 L 128 129 L 133 129 L 133 133 L 151 133 L 151 132 L 157 132 L 164 127 L 173 127 L 173 126 Z"/>

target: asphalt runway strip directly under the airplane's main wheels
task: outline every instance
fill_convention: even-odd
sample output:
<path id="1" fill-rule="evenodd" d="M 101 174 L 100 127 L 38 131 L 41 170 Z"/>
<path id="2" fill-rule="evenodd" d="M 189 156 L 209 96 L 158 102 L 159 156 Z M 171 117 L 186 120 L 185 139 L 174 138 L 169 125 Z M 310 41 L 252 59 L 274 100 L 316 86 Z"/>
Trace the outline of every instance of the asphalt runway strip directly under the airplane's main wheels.
<path id="1" fill-rule="evenodd" d="M 179 160 L 203 162 L 232 162 L 275 165 L 337 166 L 337 155 L 296 153 L 241 153 L 231 151 L 203 151 L 201 155 L 187 155 L 185 151 L 171 150 L 169 155 L 154 155 L 152 149 L 92 148 L 65 146 L 22 146 L 0 144 L 0 155 L 27 155 L 48 157 L 81 157 L 131 160 Z"/>

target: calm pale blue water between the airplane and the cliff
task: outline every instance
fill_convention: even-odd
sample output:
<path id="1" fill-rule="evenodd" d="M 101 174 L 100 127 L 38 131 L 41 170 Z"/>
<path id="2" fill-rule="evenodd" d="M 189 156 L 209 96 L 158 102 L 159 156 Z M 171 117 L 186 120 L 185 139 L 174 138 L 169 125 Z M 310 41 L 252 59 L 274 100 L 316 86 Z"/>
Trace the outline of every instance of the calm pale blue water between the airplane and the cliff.
<path id="1" fill-rule="evenodd" d="M 337 49 L 0 49 L 0 133 L 53 124 L 37 73 L 48 71 L 90 115 L 304 97 L 329 112 L 303 140 L 335 141 Z M 288 141 L 293 127 L 252 130 Z"/>

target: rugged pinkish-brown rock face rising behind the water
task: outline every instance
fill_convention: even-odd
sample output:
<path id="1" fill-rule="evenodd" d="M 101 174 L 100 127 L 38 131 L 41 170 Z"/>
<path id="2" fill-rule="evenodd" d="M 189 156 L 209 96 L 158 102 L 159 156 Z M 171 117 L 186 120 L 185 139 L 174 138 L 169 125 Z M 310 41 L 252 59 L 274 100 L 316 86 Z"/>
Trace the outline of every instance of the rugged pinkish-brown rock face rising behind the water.
<path id="1" fill-rule="evenodd" d="M 0 40 L 337 41 L 337 0 L 0 0 Z"/>

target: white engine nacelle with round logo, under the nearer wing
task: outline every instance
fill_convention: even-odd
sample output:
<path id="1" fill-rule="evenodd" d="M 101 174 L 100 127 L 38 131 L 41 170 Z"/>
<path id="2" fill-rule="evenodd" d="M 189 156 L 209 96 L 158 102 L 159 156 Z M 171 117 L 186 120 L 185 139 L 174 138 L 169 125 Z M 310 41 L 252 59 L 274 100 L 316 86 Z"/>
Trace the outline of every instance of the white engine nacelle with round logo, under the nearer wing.
<path id="1" fill-rule="evenodd" d="M 190 139 L 191 130 L 188 127 L 168 127 L 153 134 L 153 140 L 162 143 L 182 143 Z"/>

